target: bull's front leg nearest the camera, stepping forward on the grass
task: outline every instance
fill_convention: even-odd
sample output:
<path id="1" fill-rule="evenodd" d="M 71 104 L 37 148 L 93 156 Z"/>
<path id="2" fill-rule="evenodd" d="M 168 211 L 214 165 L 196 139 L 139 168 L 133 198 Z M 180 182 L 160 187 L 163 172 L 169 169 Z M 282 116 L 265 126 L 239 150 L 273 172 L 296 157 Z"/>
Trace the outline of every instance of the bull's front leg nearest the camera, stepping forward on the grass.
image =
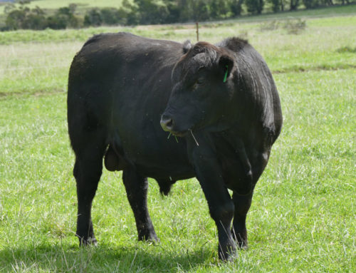
<path id="1" fill-rule="evenodd" d="M 197 138 L 199 138 L 199 146 L 195 140 L 187 140 L 188 153 L 208 202 L 211 218 L 216 223 L 219 258 L 226 261 L 231 259 L 231 255 L 236 251 L 236 243 L 231 234 L 234 202 L 224 185 L 221 167 L 214 150 L 209 147 L 209 139 L 206 139 L 208 137 L 201 135 Z"/>

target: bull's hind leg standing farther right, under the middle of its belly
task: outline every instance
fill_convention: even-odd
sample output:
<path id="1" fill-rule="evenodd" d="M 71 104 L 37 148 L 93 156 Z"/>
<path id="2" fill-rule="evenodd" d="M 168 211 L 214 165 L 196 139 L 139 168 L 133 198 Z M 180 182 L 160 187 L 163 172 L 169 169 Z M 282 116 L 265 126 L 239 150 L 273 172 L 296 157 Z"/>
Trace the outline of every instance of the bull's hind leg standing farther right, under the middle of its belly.
<path id="1" fill-rule="evenodd" d="M 158 241 L 147 209 L 148 182 L 134 168 L 126 168 L 122 174 L 127 199 L 135 215 L 139 240 Z"/>

